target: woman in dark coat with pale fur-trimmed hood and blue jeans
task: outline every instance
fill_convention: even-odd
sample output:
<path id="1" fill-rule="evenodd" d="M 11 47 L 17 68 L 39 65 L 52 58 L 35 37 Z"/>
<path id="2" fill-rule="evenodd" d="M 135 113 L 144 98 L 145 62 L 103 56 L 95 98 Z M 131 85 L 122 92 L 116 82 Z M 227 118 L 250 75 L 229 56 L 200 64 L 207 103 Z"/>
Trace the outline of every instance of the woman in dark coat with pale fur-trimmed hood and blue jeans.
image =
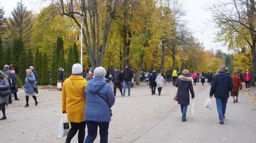
<path id="1" fill-rule="evenodd" d="M 191 93 L 192 99 L 195 97 L 193 90 L 192 80 L 193 78 L 188 77 L 189 71 L 183 70 L 182 75 L 175 82 L 175 86 L 178 87 L 178 104 L 180 104 L 182 121 L 186 120 L 187 106 L 189 105 L 189 91 Z"/>

